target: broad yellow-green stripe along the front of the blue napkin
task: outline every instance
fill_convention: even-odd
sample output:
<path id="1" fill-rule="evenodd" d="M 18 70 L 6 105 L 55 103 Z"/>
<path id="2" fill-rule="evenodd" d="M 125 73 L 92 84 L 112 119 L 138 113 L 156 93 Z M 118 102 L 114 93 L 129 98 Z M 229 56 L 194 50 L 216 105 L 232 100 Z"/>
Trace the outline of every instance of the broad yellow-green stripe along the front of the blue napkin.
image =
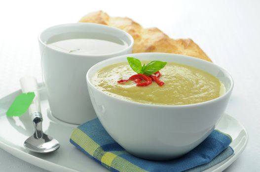
<path id="1" fill-rule="evenodd" d="M 110 169 L 111 167 L 119 172 L 148 172 L 133 163 L 130 163 L 124 158 L 119 157 L 119 152 L 112 153 L 104 151 L 98 143 L 93 141 L 78 128 L 74 129 L 71 139 L 95 159 L 102 162 L 102 165 L 107 169 Z"/>

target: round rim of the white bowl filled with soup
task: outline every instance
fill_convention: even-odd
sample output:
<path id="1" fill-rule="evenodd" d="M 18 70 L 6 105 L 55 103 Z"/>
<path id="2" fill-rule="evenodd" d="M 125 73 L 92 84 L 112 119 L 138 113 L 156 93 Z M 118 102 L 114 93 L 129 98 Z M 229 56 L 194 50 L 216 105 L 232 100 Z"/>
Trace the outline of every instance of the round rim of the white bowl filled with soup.
<path id="1" fill-rule="evenodd" d="M 153 54 L 153 55 L 170 55 L 170 56 L 180 56 L 180 57 L 185 57 L 185 58 L 189 58 L 189 59 L 192 59 L 192 60 L 198 60 L 200 62 L 206 62 L 206 63 L 209 63 L 211 65 L 214 65 L 216 67 L 218 67 L 221 71 L 223 71 L 229 78 L 230 80 L 230 87 L 229 89 L 221 96 L 215 98 L 215 99 L 211 99 L 211 100 L 208 100 L 208 101 L 205 101 L 205 102 L 200 102 L 200 103 L 193 103 L 193 104 L 187 104 L 187 105 L 160 105 L 160 104 L 146 104 L 146 103 L 140 103 L 140 102 L 134 102 L 134 101 L 130 101 L 130 100 L 127 100 L 127 99 L 121 99 L 119 97 L 115 97 L 115 96 L 112 96 L 108 93 L 105 93 L 104 91 L 98 89 L 96 86 L 94 86 L 92 83 L 91 83 L 91 76 L 90 76 L 90 73 L 92 72 L 92 70 L 94 70 L 93 68 L 96 68 L 97 66 L 99 66 L 100 64 L 104 64 L 104 63 L 107 63 L 109 62 L 110 60 L 113 60 L 113 59 L 121 59 L 123 57 L 133 57 L 133 56 L 138 56 L 138 55 L 143 55 L 143 54 Z M 108 64 L 108 65 L 111 65 L 111 64 Z M 196 67 L 197 68 L 197 67 Z M 199 68 L 198 68 L 199 69 Z M 98 69 L 100 70 L 100 69 Z M 97 72 L 98 70 L 96 70 L 95 72 Z M 200 69 L 202 70 L 202 69 Z M 204 70 L 203 70 L 204 71 Z M 103 61 L 100 61 L 98 63 L 96 63 L 95 65 L 93 65 L 88 71 L 87 71 L 87 74 L 86 74 L 86 81 L 87 81 L 87 86 L 91 86 L 92 88 L 94 88 L 95 90 L 97 90 L 98 92 L 104 94 L 105 96 L 108 96 L 112 99 L 115 99 L 115 100 L 118 100 L 118 101 L 123 101 L 123 102 L 126 102 L 126 103 L 130 103 L 130 104 L 133 104 L 133 105 L 137 105 L 137 106 L 149 106 L 149 107 L 163 107 L 163 108 L 188 108 L 188 107 L 194 107 L 194 106 L 203 106 L 203 105 L 208 105 L 208 104 L 212 104 L 212 103 L 215 103 L 215 102 L 219 102 L 223 99 L 225 99 L 227 96 L 229 96 L 229 94 L 232 92 L 232 89 L 234 87 L 234 81 L 233 81 L 233 78 L 232 76 L 225 70 L 223 69 L 222 67 L 212 63 L 212 62 L 209 62 L 209 61 L 206 61 L 206 60 L 203 60 L 203 59 L 200 59 L 200 58 L 196 58 L 196 57 L 190 57 L 190 56 L 185 56 L 185 55 L 179 55 L 179 54 L 173 54 L 173 53 L 133 53 L 133 54 L 126 54 L 126 55 L 121 55 L 121 56 L 117 56 L 117 57 L 112 57 L 112 58 L 108 58 L 108 59 L 105 59 Z M 89 89 L 89 88 L 88 88 Z"/>

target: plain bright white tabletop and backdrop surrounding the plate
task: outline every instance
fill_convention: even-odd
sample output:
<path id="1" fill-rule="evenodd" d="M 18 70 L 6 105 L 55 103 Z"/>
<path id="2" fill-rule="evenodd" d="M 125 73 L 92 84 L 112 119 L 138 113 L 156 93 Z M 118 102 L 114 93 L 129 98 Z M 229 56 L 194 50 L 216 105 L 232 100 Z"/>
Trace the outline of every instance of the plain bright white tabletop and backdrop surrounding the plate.
<path id="1" fill-rule="evenodd" d="M 226 112 L 247 128 L 249 143 L 225 172 L 260 172 L 259 0 L 8 0 L 0 2 L 0 97 L 19 89 L 19 78 L 41 82 L 38 33 L 104 10 L 158 27 L 173 38 L 192 38 L 233 76 Z M 4 130 L 4 128 L 1 128 Z M 0 149 L 0 172 L 46 172 Z"/>

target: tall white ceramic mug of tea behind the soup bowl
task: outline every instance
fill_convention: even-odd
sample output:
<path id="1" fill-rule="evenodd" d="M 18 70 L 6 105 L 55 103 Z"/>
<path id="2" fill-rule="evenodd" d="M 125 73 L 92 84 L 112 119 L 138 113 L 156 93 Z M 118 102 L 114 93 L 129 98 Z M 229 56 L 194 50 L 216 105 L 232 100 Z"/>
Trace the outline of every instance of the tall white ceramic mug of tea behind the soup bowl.
<path id="1" fill-rule="evenodd" d="M 80 55 L 65 53 L 46 44 L 51 37 L 69 32 L 107 34 L 125 41 L 128 47 L 112 54 Z M 50 27 L 40 33 L 38 41 L 51 113 L 56 118 L 73 124 L 81 124 L 96 117 L 85 82 L 88 69 L 104 59 L 131 53 L 134 43 L 132 36 L 123 30 L 91 23 Z"/>

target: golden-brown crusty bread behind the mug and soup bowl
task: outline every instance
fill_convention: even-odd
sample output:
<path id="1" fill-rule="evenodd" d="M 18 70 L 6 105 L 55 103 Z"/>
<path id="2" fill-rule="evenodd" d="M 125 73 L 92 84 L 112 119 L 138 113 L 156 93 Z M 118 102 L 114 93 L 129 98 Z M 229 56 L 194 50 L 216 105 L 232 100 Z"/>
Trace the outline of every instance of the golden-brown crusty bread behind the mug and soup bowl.
<path id="1" fill-rule="evenodd" d="M 103 11 L 91 12 L 79 22 L 97 23 L 125 30 L 135 40 L 133 53 L 160 52 L 175 53 L 212 60 L 191 39 L 171 39 L 157 28 L 144 29 L 141 25 L 127 17 L 110 17 Z"/>

